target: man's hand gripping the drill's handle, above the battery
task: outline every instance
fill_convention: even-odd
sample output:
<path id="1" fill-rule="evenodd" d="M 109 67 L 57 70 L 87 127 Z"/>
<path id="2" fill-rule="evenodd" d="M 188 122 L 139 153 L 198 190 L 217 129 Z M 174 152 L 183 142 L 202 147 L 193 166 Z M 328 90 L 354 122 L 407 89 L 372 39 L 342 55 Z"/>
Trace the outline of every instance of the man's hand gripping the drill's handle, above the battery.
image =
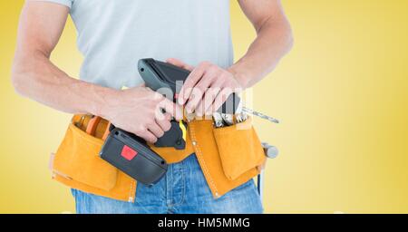
<path id="1" fill-rule="evenodd" d="M 151 143 L 170 130 L 171 117 L 182 119 L 180 106 L 142 86 L 112 92 L 101 115 L 116 127 Z"/>

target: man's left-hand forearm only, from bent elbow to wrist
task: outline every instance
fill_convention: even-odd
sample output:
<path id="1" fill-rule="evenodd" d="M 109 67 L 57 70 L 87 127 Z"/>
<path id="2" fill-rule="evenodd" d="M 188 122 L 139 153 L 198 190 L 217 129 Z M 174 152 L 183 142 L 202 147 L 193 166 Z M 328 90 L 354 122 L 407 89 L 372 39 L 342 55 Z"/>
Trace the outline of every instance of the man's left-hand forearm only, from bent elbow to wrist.
<path id="1" fill-rule="evenodd" d="M 13 83 L 21 95 L 70 113 L 102 114 L 106 98 L 114 92 L 71 78 L 41 52 L 16 54 Z"/>

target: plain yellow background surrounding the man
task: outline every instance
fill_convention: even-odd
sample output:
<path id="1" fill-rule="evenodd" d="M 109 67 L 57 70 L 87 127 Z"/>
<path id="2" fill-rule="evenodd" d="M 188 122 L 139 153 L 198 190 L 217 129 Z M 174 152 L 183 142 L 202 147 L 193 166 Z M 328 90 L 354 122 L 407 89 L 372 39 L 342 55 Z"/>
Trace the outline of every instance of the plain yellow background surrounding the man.
<path id="1" fill-rule="evenodd" d="M 0 212 L 74 211 L 47 169 L 70 116 L 17 96 L 10 66 L 22 0 L 0 1 Z M 280 152 L 267 165 L 268 213 L 408 213 L 408 1 L 284 1 L 295 47 L 262 84 L 257 120 Z M 234 1 L 236 58 L 255 34 Z M 77 76 L 71 20 L 53 62 Z"/>

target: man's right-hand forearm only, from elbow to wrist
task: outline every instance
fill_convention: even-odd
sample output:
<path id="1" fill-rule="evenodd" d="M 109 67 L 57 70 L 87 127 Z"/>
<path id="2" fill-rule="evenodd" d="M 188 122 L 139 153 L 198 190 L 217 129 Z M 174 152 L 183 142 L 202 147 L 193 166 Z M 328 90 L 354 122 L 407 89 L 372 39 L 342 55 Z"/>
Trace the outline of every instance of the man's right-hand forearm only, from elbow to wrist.
<path id="1" fill-rule="evenodd" d="M 272 72 L 280 59 L 291 49 L 292 32 L 284 17 L 269 18 L 257 28 L 257 38 L 248 52 L 228 71 L 244 88 L 259 82 Z"/>

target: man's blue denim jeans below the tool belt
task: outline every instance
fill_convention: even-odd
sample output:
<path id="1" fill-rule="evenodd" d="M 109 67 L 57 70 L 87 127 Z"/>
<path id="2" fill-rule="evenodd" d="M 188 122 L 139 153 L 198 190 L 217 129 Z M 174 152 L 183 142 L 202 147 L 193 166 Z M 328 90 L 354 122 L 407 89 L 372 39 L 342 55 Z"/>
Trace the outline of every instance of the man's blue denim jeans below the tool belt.
<path id="1" fill-rule="evenodd" d="M 154 186 L 138 183 L 134 203 L 76 189 L 72 191 L 76 212 L 80 214 L 239 214 L 263 211 L 253 179 L 214 199 L 194 154 L 179 163 L 170 164 L 166 175 Z"/>

